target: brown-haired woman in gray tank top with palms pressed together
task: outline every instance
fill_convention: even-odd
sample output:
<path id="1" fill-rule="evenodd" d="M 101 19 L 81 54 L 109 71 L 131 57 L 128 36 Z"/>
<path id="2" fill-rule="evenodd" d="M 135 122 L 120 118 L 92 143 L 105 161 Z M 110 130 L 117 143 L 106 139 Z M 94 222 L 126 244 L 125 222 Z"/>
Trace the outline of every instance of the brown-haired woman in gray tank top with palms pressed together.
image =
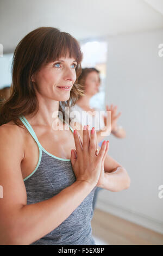
<path id="1" fill-rule="evenodd" d="M 95 245 L 96 187 L 130 186 L 108 142 L 98 150 L 95 129 L 67 124 L 65 107 L 83 94 L 81 61 L 77 40 L 53 27 L 35 29 L 16 47 L 11 95 L 0 111 L 1 245 Z"/>

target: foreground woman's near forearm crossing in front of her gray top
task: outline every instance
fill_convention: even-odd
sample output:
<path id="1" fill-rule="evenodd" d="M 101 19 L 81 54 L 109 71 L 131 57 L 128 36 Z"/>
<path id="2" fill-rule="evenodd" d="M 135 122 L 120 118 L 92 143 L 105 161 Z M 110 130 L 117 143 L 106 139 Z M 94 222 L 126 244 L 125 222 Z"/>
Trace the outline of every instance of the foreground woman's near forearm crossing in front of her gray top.
<path id="1" fill-rule="evenodd" d="M 23 206 L 12 218 L 10 242 L 29 245 L 57 228 L 83 202 L 93 187 L 85 181 L 76 181 L 56 196 Z"/>

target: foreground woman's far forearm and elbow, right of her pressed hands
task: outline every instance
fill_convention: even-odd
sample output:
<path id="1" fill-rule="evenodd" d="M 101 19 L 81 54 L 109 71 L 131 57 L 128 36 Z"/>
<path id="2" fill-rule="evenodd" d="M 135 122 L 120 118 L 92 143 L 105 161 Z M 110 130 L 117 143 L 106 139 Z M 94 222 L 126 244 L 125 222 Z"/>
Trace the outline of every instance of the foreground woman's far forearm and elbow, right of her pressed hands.
<path id="1" fill-rule="evenodd" d="M 101 186 L 109 191 L 126 190 L 130 186 L 130 177 L 122 166 L 117 167 L 113 172 L 105 172 L 104 184 Z"/>

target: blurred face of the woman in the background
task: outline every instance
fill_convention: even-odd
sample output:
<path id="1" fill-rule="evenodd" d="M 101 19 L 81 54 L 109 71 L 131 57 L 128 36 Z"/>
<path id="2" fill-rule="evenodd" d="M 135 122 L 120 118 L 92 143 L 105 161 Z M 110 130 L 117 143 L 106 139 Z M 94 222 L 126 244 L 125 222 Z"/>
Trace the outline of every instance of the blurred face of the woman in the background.
<path id="1" fill-rule="evenodd" d="M 96 71 L 90 72 L 85 79 L 85 93 L 93 96 L 99 92 L 99 75 Z"/>

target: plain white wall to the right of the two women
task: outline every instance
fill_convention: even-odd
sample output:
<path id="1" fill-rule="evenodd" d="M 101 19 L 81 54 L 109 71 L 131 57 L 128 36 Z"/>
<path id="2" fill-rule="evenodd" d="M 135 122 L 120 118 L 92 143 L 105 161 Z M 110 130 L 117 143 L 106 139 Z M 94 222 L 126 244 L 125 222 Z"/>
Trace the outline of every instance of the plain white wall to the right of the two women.
<path id="1" fill-rule="evenodd" d="M 127 137 L 109 139 L 109 154 L 127 169 L 130 188 L 99 191 L 97 208 L 163 233 L 163 30 L 108 39 L 106 97 L 122 111 Z"/>

